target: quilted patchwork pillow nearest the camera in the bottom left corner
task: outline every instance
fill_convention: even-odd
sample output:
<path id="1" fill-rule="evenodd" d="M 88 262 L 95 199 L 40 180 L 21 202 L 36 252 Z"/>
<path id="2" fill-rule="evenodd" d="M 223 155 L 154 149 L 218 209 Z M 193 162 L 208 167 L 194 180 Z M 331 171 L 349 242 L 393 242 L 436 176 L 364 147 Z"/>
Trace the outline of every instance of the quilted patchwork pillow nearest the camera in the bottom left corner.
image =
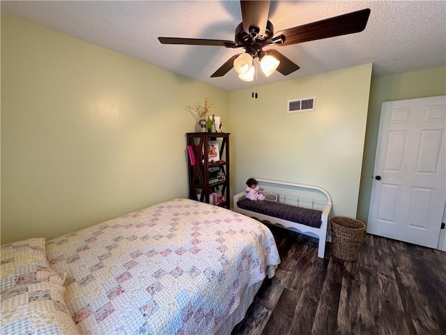
<path id="1" fill-rule="evenodd" d="M 1 294 L 0 334 L 79 334 L 63 301 L 63 281 L 20 285 Z"/>

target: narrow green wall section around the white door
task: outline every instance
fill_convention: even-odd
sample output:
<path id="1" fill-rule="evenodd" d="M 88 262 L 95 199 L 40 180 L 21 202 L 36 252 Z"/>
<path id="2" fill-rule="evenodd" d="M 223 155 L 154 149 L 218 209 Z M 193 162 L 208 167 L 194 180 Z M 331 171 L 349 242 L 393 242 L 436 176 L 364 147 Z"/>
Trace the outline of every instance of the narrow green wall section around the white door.
<path id="1" fill-rule="evenodd" d="M 364 144 L 364 160 L 357 219 L 367 223 L 372 177 L 374 174 L 376 140 L 381 103 L 446 94 L 446 68 L 430 68 L 399 75 L 376 77 L 371 81 L 369 115 Z"/>

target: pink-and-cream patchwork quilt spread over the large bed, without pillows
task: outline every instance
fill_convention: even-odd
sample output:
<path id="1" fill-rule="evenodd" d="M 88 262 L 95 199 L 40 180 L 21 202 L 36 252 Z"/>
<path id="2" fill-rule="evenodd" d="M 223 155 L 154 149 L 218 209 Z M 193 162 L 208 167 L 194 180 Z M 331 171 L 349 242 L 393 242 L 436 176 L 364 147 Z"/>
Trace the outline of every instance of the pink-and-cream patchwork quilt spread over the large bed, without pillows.
<path id="1" fill-rule="evenodd" d="M 47 242 L 82 334 L 214 334 L 279 255 L 264 225 L 187 199 Z"/>

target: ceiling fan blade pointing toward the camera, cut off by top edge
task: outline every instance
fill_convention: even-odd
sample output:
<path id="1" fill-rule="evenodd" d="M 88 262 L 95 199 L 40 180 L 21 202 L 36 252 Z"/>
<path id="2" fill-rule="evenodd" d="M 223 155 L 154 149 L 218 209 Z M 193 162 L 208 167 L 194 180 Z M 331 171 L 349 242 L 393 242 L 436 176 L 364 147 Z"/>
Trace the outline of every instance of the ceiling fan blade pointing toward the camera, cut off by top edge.
<path id="1" fill-rule="evenodd" d="M 270 1 L 240 1 L 243 17 L 243 30 L 250 34 L 249 27 L 259 29 L 258 34 L 266 31 L 266 22 L 270 12 Z"/>

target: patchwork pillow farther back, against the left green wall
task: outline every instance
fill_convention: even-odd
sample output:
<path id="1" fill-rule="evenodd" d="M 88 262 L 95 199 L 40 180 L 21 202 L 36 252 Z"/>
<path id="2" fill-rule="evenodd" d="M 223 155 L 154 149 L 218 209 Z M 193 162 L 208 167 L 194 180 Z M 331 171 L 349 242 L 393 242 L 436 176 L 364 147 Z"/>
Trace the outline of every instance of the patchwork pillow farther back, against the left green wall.
<path id="1" fill-rule="evenodd" d="M 49 265 L 44 238 L 4 244 L 0 248 L 0 258 L 1 293 L 21 285 L 49 281 L 52 276 L 64 279 Z"/>

